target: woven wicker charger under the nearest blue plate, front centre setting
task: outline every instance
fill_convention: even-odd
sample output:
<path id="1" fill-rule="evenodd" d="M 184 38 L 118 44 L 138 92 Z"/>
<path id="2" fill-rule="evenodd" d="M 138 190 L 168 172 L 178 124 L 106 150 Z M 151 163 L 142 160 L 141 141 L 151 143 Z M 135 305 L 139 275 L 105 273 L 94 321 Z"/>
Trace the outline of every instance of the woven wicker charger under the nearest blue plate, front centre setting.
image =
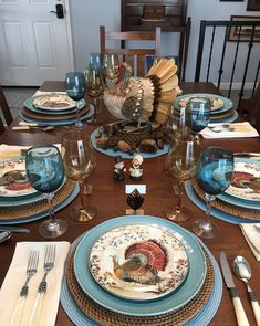
<path id="1" fill-rule="evenodd" d="M 74 254 L 71 255 L 67 270 L 66 270 L 66 282 L 70 288 L 70 292 L 77 304 L 79 308 L 87 315 L 90 318 L 96 323 L 101 323 L 106 326 L 136 326 L 136 325 L 153 325 L 153 326 L 165 326 L 165 325 L 183 325 L 191 318 L 194 318 L 199 311 L 205 306 L 214 287 L 214 267 L 208 254 L 204 251 L 207 264 L 207 275 L 205 283 L 200 292 L 184 307 L 178 311 L 162 314 L 158 316 L 150 317 L 139 317 L 139 316 L 128 316 L 118 313 L 114 313 L 104 308 L 103 306 L 95 303 L 90 298 L 79 285 L 75 274 L 74 274 Z"/>

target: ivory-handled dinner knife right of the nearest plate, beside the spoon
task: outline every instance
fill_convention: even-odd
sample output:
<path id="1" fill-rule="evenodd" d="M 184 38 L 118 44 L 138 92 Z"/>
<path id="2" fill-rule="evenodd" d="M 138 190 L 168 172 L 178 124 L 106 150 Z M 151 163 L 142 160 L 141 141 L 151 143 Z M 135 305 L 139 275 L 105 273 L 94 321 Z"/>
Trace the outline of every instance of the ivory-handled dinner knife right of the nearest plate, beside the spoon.
<path id="1" fill-rule="evenodd" d="M 245 313 L 242 303 L 239 297 L 239 293 L 237 287 L 235 286 L 232 274 L 228 264 L 228 260 L 226 253 L 223 251 L 220 252 L 220 265 L 222 270 L 223 280 L 226 282 L 227 287 L 230 290 L 230 295 L 233 303 L 233 308 L 237 317 L 237 322 L 239 326 L 250 326 L 247 315 Z"/>

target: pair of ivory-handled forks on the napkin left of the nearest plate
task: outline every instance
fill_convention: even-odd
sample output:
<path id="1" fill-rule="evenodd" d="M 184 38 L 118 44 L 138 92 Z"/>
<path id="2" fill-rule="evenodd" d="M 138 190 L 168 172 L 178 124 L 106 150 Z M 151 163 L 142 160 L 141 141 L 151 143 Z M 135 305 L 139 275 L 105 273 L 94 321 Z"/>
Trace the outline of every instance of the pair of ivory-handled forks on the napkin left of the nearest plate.
<path id="1" fill-rule="evenodd" d="M 32 308 L 32 314 L 30 317 L 30 322 L 28 324 L 29 326 L 34 326 L 38 324 L 38 318 L 42 309 L 42 301 L 48 290 L 46 276 L 49 272 L 53 270 L 54 263 L 55 263 L 55 245 L 49 244 L 46 245 L 45 254 L 44 254 L 44 263 L 43 263 L 44 275 L 38 287 L 38 295 L 34 302 L 34 306 Z M 24 285 L 22 286 L 20 291 L 19 299 L 17 303 L 15 309 L 13 312 L 10 326 L 19 326 L 22 320 L 24 302 L 29 294 L 29 282 L 39 271 L 38 265 L 39 265 L 39 250 L 32 250 L 29 255 L 28 266 L 25 271 L 27 278 L 25 278 Z"/>

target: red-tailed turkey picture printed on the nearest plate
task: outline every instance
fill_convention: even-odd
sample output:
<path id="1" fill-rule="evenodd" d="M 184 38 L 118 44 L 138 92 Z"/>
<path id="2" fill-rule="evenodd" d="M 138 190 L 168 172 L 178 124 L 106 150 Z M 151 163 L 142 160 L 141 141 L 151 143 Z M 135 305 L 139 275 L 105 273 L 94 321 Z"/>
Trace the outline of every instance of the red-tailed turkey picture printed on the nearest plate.
<path id="1" fill-rule="evenodd" d="M 156 242 L 137 242 L 125 251 L 125 261 L 118 262 L 117 256 L 112 256 L 114 274 L 126 282 L 141 284 L 157 284 L 160 282 L 159 271 L 164 271 L 167 264 L 165 250 Z"/>

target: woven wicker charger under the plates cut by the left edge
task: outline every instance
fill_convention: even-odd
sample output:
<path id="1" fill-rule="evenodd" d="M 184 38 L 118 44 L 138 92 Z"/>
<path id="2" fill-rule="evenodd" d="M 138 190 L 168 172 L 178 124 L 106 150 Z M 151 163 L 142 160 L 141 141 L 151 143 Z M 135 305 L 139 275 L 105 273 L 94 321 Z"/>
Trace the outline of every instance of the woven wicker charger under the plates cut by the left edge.
<path id="1" fill-rule="evenodd" d="M 62 188 L 55 192 L 55 196 L 53 198 L 53 204 L 56 206 L 61 203 L 63 200 L 67 198 L 67 196 L 73 191 L 74 189 L 74 181 L 67 179 L 66 182 L 62 186 Z M 22 218 L 28 218 L 35 215 L 40 212 L 48 211 L 48 201 L 45 199 L 22 204 L 22 206 L 15 206 L 15 207 L 1 207 L 0 208 L 0 220 L 17 220 Z"/>

